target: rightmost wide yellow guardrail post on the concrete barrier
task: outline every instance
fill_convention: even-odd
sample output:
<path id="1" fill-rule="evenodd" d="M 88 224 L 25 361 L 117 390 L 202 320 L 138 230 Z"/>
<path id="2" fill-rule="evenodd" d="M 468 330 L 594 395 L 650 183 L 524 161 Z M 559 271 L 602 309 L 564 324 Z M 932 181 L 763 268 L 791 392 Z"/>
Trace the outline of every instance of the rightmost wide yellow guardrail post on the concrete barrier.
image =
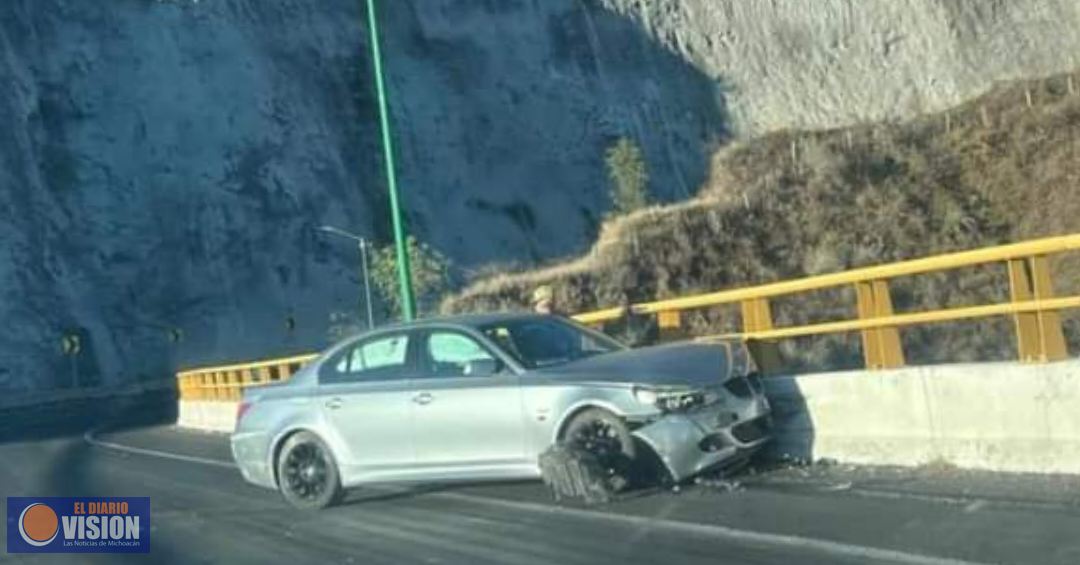
<path id="1" fill-rule="evenodd" d="M 1053 280 L 1045 255 L 1009 260 L 1009 296 L 1014 302 L 1053 298 Z M 1068 357 L 1062 320 L 1056 311 L 1020 312 L 1013 314 L 1013 321 L 1021 361 L 1044 363 Z"/>

